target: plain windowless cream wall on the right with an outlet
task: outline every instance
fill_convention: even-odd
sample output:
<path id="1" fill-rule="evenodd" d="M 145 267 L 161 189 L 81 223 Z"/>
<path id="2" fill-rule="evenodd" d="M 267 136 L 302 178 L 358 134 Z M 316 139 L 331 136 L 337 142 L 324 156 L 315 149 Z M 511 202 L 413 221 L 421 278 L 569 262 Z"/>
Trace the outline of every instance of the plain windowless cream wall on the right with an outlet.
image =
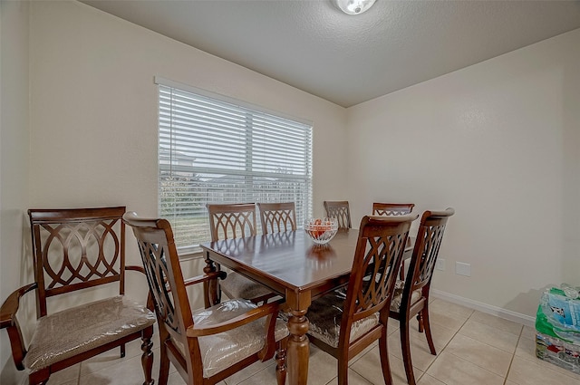
<path id="1" fill-rule="evenodd" d="M 578 63 L 575 30 L 350 108 L 354 220 L 455 207 L 433 287 L 462 301 L 534 316 L 547 285 L 580 285 Z"/>

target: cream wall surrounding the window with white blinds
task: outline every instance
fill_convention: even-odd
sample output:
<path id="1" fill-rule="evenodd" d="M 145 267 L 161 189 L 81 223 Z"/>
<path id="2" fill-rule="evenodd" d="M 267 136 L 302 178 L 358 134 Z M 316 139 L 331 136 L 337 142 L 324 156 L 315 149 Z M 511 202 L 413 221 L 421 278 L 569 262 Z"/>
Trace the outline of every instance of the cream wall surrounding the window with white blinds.
<path id="1" fill-rule="evenodd" d="M 342 107 L 82 3 L 33 2 L 30 31 L 31 206 L 157 215 L 156 75 L 313 121 L 314 210 L 343 186 Z"/>

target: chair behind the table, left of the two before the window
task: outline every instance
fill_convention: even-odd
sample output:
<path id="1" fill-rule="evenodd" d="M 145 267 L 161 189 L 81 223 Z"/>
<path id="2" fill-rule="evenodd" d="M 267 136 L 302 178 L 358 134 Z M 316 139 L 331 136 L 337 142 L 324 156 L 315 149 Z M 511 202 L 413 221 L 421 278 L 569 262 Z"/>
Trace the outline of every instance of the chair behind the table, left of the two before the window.
<path id="1" fill-rule="evenodd" d="M 212 242 L 256 236 L 256 204 L 208 204 L 207 207 Z M 246 298 L 254 303 L 261 303 L 275 296 L 266 286 L 237 272 L 229 272 L 225 279 L 220 279 L 218 287 L 227 298 Z"/>

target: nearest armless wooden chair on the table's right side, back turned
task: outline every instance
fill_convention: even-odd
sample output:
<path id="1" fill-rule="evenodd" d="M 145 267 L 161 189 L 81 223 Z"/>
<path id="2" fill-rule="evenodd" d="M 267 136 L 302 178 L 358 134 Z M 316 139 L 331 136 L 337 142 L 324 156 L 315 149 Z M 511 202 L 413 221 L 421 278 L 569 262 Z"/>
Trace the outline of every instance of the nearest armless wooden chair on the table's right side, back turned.
<path id="1" fill-rule="evenodd" d="M 308 338 L 338 360 L 338 384 L 348 383 L 348 361 L 379 340 L 382 376 L 392 384 L 387 322 L 396 272 L 414 216 L 362 217 L 346 287 L 311 303 Z"/>

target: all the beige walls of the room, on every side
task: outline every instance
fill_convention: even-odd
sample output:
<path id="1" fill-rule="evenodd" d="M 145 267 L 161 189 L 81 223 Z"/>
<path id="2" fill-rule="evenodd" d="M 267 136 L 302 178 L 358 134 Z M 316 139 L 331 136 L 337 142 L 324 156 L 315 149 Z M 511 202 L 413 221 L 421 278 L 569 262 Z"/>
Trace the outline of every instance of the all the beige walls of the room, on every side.
<path id="1" fill-rule="evenodd" d="M 342 198 L 355 223 L 374 200 L 455 207 L 442 295 L 532 316 L 547 284 L 580 284 L 579 30 L 344 110 L 88 5 L 27 9 L 2 2 L 1 300 L 30 280 L 26 208 L 157 214 L 156 75 L 312 120 L 315 214 Z"/>

